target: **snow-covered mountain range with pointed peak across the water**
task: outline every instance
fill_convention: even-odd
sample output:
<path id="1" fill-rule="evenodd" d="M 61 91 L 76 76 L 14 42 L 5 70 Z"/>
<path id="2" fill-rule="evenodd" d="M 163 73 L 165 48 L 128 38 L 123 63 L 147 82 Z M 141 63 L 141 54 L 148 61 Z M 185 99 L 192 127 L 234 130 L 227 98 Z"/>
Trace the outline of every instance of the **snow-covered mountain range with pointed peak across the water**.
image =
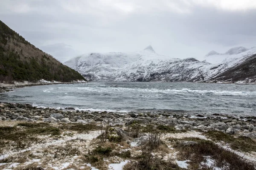
<path id="1" fill-rule="evenodd" d="M 222 59 L 223 62 L 212 64 L 194 58 L 178 59 L 163 56 L 155 53 L 149 45 L 143 51 L 132 53 L 83 54 L 64 64 L 91 81 L 215 82 L 218 75 L 256 54 L 256 48 L 241 51 L 242 48 L 233 48 L 227 51 L 227 54 L 211 52 L 208 57 L 232 54 L 232 57 Z M 218 82 L 222 82 L 219 77 Z"/>

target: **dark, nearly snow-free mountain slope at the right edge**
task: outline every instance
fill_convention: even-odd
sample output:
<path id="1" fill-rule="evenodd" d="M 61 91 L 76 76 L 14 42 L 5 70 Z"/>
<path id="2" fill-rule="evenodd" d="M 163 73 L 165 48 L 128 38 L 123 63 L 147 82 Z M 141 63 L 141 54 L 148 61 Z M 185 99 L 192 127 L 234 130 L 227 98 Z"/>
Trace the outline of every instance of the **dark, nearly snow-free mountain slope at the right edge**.
<path id="1" fill-rule="evenodd" d="M 243 62 L 212 79 L 225 82 L 256 82 L 256 54 L 246 57 Z"/>

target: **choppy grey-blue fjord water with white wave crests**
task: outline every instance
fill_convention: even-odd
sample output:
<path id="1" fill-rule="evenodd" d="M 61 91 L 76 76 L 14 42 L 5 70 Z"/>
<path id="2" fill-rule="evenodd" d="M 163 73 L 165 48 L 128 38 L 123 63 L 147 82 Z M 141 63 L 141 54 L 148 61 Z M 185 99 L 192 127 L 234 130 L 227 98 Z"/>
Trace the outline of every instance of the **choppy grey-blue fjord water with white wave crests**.
<path id="1" fill-rule="evenodd" d="M 256 86 L 168 82 L 89 82 L 17 88 L 1 102 L 107 111 L 256 115 Z"/>

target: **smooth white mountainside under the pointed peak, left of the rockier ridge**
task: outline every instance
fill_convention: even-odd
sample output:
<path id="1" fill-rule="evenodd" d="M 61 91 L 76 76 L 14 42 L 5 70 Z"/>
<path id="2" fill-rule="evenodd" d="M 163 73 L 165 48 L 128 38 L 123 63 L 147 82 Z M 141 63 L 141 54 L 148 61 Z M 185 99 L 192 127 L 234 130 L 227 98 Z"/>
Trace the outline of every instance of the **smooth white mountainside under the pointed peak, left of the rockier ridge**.
<path id="1" fill-rule="evenodd" d="M 149 45 L 143 51 L 133 53 L 91 53 L 73 58 L 64 64 L 79 71 L 84 77 L 93 81 L 109 81 L 116 79 L 125 68 L 131 69 L 138 65 L 145 66 L 170 60 L 171 57 L 156 54 Z"/>

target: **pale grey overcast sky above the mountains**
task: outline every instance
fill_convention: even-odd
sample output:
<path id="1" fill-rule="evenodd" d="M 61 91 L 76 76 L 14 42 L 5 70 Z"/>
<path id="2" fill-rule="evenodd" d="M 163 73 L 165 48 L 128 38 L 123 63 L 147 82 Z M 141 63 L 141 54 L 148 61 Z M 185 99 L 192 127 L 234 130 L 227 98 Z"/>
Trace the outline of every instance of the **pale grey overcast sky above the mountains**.
<path id="1" fill-rule="evenodd" d="M 148 45 L 197 59 L 256 46 L 256 0 L 0 0 L 0 20 L 61 61 Z"/>

